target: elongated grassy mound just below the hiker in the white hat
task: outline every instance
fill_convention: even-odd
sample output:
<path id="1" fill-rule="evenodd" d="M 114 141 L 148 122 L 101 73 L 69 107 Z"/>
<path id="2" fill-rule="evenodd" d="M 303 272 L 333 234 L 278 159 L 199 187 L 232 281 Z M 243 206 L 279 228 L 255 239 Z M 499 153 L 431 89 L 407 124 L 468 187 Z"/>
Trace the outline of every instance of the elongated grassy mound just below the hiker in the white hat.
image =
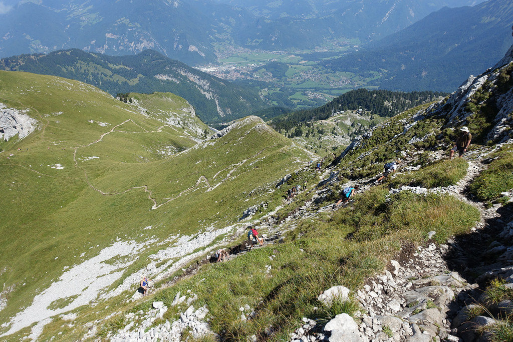
<path id="1" fill-rule="evenodd" d="M 399 174 L 388 184 L 394 188 L 403 185 L 424 188 L 455 185 L 467 174 L 468 163 L 463 158 L 445 159 L 407 174 Z"/>

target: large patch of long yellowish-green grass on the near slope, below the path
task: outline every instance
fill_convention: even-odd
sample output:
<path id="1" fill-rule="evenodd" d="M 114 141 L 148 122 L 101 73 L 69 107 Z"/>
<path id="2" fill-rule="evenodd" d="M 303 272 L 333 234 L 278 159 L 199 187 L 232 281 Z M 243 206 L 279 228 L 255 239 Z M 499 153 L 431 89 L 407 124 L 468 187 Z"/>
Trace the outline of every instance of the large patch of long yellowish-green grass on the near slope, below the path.
<path id="1" fill-rule="evenodd" d="M 207 305 L 210 326 L 224 340 L 252 335 L 287 340 L 303 324 L 302 317 L 322 323 L 341 312 L 352 315 L 359 310 L 353 300 L 323 305 L 317 296 L 326 289 L 344 285 L 356 291 L 366 278 L 382 271 L 403 245 L 424 243 L 432 230 L 437 232 L 437 243 L 444 243 L 468 232 L 479 219 L 477 209 L 452 196 L 403 192 L 387 197 L 385 187 L 374 187 L 337 212 L 304 219 L 285 234 L 282 244 L 202 266 L 198 274 L 125 307 L 106 321 L 103 331 L 122 328 L 124 315 L 147 310 L 152 301 L 170 306 L 178 291 L 191 290 L 198 295 L 194 307 Z M 252 319 L 241 319 L 239 308 L 245 305 L 256 312 Z M 178 317 L 180 310 L 170 308 L 155 324 Z"/>

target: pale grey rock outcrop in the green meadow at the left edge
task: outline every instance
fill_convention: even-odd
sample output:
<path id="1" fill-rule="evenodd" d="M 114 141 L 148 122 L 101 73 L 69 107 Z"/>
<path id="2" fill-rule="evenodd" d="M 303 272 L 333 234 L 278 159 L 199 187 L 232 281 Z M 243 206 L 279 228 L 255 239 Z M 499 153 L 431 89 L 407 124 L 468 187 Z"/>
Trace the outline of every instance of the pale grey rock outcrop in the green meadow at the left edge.
<path id="1" fill-rule="evenodd" d="M 16 134 L 18 139 L 23 139 L 32 133 L 36 127 L 37 120 L 23 111 L 7 108 L 6 105 L 0 103 L 0 139 L 7 142 Z"/>

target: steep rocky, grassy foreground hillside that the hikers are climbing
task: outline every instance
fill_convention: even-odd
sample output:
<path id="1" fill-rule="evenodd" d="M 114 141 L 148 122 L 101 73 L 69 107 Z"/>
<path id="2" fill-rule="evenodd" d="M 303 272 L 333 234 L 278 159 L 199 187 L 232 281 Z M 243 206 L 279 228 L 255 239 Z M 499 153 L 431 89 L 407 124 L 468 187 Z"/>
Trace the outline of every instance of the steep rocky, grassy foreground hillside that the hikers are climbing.
<path id="1" fill-rule="evenodd" d="M 259 223 L 262 231 L 276 234 L 275 239 L 269 239 L 269 246 L 241 253 L 239 243 L 244 237 L 239 237 L 228 245 L 234 254 L 232 260 L 207 264 L 203 263 L 202 256 L 190 264 L 188 270 L 193 272 L 173 274 L 160 284 L 161 289 L 152 297 L 135 305 L 127 303 L 116 307 L 115 312 L 108 311 L 113 316 L 96 323 L 96 336 L 107 339 L 134 334 L 151 336 L 157 331 L 179 339 L 200 335 L 200 340 L 207 341 L 218 337 L 226 341 L 281 341 L 293 336 L 304 337 L 305 331 L 311 329 L 308 333 L 311 337 L 337 340 L 332 338 L 333 331 L 324 329 L 328 321 L 346 313 L 356 321 L 354 330 L 363 336 L 359 339 L 362 341 L 372 340 L 373 336 L 380 336 L 380 340 L 392 336 L 394 340 L 402 336 L 406 340 L 412 336 L 436 340 L 440 336 L 447 337 L 450 331 L 449 324 L 443 323 L 444 319 L 452 323 L 457 320 L 455 315 L 447 313 L 450 311 L 446 304 L 457 306 L 458 311 L 465 308 L 467 300 L 475 300 L 473 295 L 483 294 L 481 288 L 478 289 L 482 284 L 469 285 L 458 272 L 479 272 L 473 274 L 473 278 L 478 274 L 484 277 L 476 281 L 485 284 L 483 288 L 488 298 L 485 296 L 483 303 L 487 303 L 488 308 L 502 300 L 510 303 L 513 297 L 504 284 L 511 278 L 485 277 L 490 274 L 489 270 L 494 270 L 491 274 L 500 274 L 513 268 L 509 252 L 502 246 L 511 245 L 507 237 L 511 236 L 511 223 L 505 225 L 502 220 L 511 219 L 511 204 L 502 205 L 513 198 L 508 177 L 511 173 L 510 143 L 513 141 L 510 129 L 513 48 L 506 57 L 509 62 L 476 78 L 471 77 L 447 98 L 386 119 L 355 139 L 339 158 L 328 159 L 327 162 L 332 163 L 322 173 L 324 179 L 315 184 L 314 191 L 301 193 L 287 207 Z M 472 129 L 476 139 L 463 158 L 448 160 L 444 154 L 447 156 L 452 147 L 458 133 L 456 129 L 463 125 Z M 383 164 L 398 158 L 403 160 L 399 173 L 388 177 L 384 184 L 374 186 L 372 180 L 382 173 Z M 293 175 L 292 182 L 287 185 L 298 181 L 301 184 L 311 173 L 311 168 L 306 168 Z M 333 201 L 341 196 L 340 191 L 354 184 L 360 189 L 353 199 L 340 209 L 333 208 Z M 494 210 L 487 211 L 485 204 L 467 198 L 471 198 L 467 189 L 484 200 L 497 199 L 499 194 L 504 198 L 493 204 Z M 500 229 L 504 229 L 502 234 L 509 232 L 504 235 L 507 243 L 492 240 L 497 227 L 489 222 L 496 217 Z M 489 245 L 489 250 L 499 246 L 500 252 L 492 254 L 488 251 L 487 256 L 483 254 L 472 259 L 475 265 L 470 265 L 470 259 L 455 260 L 453 257 L 463 254 L 460 244 L 467 246 L 468 254 L 486 250 L 479 244 Z M 419 259 L 419 246 L 432 251 L 427 254 L 428 258 L 443 255 L 445 260 L 440 258 L 440 263 L 449 265 L 450 270 L 433 270 L 431 261 Z M 497 258 L 497 253 L 505 254 Z M 390 261 L 392 258 L 399 261 Z M 488 261 L 490 268 L 481 268 Z M 477 267 L 468 271 L 467 265 Z M 508 268 L 501 268 L 502 265 Z M 402 278 L 391 274 L 402 271 Z M 401 283 L 395 283 L 394 278 L 400 279 Z M 452 283 L 449 286 L 441 284 L 447 278 Z M 460 279 L 459 285 L 452 279 Z M 389 284 L 386 288 L 379 285 L 385 283 Z M 349 296 L 334 299 L 331 304 L 323 303 L 318 296 L 332 286 L 347 287 Z M 398 305 L 398 309 L 391 309 L 390 299 L 399 298 L 396 296 L 399 288 L 409 299 L 403 301 L 404 305 Z M 417 297 L 412 289 L 419 291 L 420 296 Z M 476 292 L 469 292 L 476 289 Z M 184 298 L 191 298 L 187 304 L 179 300 L 185 293 Z M 440 298 L 445 296 L 444 304 Z M 465 303 L 461 304 L 460 299 Z M 162 317 L 145 323 L 148 317 L 151 318 L 155 301 L 162 301 L 168 310 Z M 482 315 L 482 319 L 494 319 L 490 320 L 491 325 L 480 326 L 477 332 L 491 336 L 490 341 L 510 340 L 508 336 L 513 331 L 510 318 L 484 312 L 483 308 L 486 306 L 472 312 L 470 317 Z M 187 317 L 190 318 L 196 309 L 203 312 L 200 320 L 208 322 L 205 324 L 210 331 L 198 333 L 197 319 L 186 324 Z M 378 316 L 378 312 L 393 316 L 393 320 L 399 320 L 403 327 L 411 327 L 411 331 L 393 328 L 384 322 L 377 324 L 376 319 L 387 318 Z M 89 318 L 84 319 L 93 317 L 94 313 L 89 313 Z M 369 319 L 370 323 L 366 323 Z M 416 328 L 414 322 L 423 328 Z M 54 336 L 60 331 L 61 324 L 62 320 L 58 320 L 47 326 L 44 336 Z M 311 328 L 312 325 L 315 328 Z M 182 328 L 176 330 L 175 327 Z M 364 331 L 359 327 L 364 327 Z M 461 328 L 458 332 L 450 332 L 460 336 L 466 331 L 468 329 Z M 80 338 L 87 332 L 80 324 L 65 331 L 71 339 Z"/>

